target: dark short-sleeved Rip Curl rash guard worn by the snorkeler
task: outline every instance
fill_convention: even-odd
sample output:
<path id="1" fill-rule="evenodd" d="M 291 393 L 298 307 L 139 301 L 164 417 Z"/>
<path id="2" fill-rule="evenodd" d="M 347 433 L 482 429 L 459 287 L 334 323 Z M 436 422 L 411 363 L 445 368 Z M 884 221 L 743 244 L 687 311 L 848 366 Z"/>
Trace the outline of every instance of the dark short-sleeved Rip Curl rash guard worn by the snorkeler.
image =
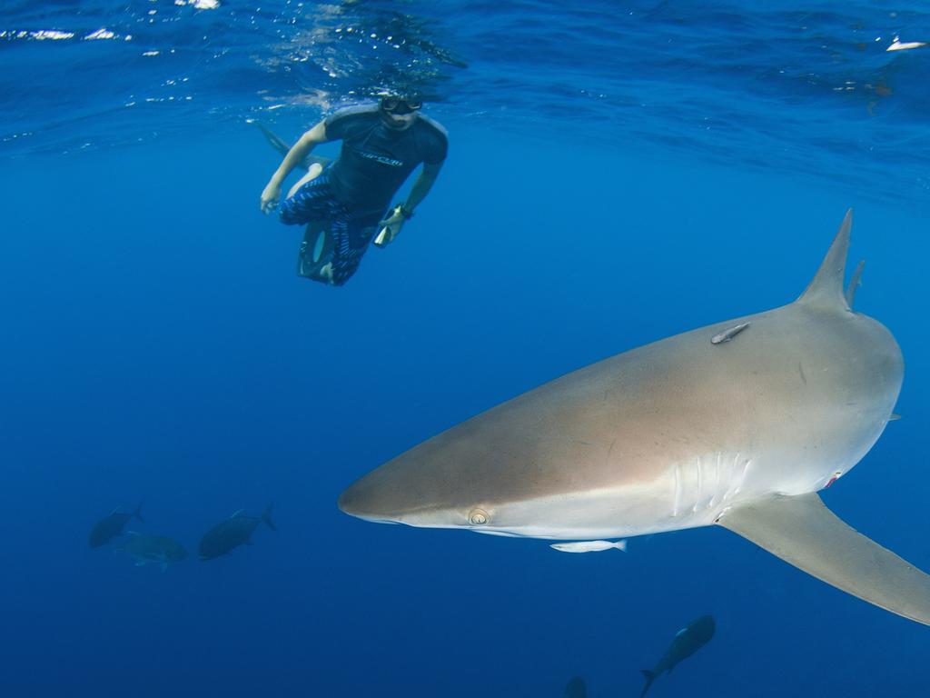
<path id="1" fill-rule="evenodd" d="M 326 139 L 342 141 L 339 159 L 329 171 L 333 194 L 355 210 L 387 208 L 420 163 L 438 165 L 448 151 L 445 128 L 428 116 L 417 114 L 409 128 L 393 130 L 384 124 L 377 105 L 330 114 Z"/>

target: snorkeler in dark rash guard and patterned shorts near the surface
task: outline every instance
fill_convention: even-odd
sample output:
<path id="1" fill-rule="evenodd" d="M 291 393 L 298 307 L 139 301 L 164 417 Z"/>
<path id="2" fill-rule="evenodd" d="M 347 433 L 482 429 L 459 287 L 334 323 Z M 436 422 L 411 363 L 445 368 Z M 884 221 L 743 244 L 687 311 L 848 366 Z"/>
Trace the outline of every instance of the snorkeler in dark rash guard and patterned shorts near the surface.
<path id="1" fill-rule="evenodd" d="M 341 286 L 355 273 L 368 243 L 384 246 L 429 193 L 448 149 L 445 128 L 420 114 L 413 95 L 382 97 L 377 104 L 347 107 L 304 133 L 287 151 L 261 193 L 270 213 L 290 171 L 304 163 L 304 175 L 281 204 L 281 222 L 306 224 L 298 274 Z M 308 158 L 313 147 L 342 141 L 339 157 Z M 423 165 L 404 204 L 387 211 L 410 173 Z"/>

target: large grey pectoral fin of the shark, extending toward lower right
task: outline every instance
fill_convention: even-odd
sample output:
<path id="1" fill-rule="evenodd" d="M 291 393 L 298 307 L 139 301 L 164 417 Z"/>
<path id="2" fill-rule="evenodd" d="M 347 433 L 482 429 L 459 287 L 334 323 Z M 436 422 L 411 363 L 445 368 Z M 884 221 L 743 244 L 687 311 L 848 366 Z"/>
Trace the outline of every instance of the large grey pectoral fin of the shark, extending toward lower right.
<path id="1" fill-rule="evenodd" d="M 815 493 L 734 506 L 717 523 L 827 584 L 930 624 L 930 576 L 851 529 Z"/>

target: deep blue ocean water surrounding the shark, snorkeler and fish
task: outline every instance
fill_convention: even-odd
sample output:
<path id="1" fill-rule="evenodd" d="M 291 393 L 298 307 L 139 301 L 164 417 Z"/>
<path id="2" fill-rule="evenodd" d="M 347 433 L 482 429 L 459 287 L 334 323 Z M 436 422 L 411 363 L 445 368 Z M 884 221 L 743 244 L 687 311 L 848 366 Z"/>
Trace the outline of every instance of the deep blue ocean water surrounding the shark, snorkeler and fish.
<path id="1" fill-rule="evenodd" d="M 627 553 L 378 526 L 339 492 L 498 402 L 790 302 L 846 208 L 857 309 L 906 362 L 891 423 L 825 500 L 923 568 L 923 4 L 26 3 L 0 10 L 0 693 L 923 694 L 923 626 L 725 530 Z M 450 133 L 417 217 L 340 289 L 259 213 L 287 141 L 415 85 Z M 324 148 L 333 154 L 332 147 Z M 136 530 L 162 573 L 88 550 Z M 278 530 L 209 562 L 210 527 Z"/>

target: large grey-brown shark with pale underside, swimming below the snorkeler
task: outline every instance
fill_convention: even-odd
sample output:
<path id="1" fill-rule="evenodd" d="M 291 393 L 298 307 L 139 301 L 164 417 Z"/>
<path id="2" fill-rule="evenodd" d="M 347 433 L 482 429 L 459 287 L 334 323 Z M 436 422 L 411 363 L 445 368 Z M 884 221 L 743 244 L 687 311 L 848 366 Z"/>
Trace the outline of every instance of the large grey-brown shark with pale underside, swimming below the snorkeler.
<path id="1" fill-rule="evenodd" d="M 849 211 L 796 302 L 545 383 L 381 465 L 339 507 L 371 521 L 563 540 L 719 524 L 930 624 L 930 577 L 817 495 L 881 436 L 904 371 L 891 333 L 852 310 L 855 287 L 844 292 L 851 222 Z"/>

